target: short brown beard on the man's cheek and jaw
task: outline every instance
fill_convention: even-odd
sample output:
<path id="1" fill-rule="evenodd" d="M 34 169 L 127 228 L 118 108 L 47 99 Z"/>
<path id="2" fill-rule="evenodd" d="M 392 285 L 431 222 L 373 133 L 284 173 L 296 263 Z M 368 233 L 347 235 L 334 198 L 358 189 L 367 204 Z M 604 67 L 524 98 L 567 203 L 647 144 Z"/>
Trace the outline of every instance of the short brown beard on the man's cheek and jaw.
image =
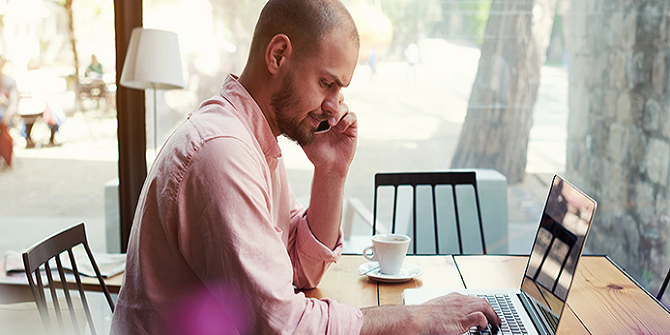
<path id="1" fill-rule="evenodd" d="M 293 72 L 289 71 L 279 92 L 272 95 L 270 106 L 274 111 L 279 131 L 288 139 L 306 146 L 314 141 L 316 128 L 306 126 L 305 123 L 311 122 L 311 117 L 319 118 L 320 115 L 309 113 L 306 118 L 300 119 L 300 114 L 292 113 L 300 107 L 300 98 L 295 94 L 294 80 Z"/>

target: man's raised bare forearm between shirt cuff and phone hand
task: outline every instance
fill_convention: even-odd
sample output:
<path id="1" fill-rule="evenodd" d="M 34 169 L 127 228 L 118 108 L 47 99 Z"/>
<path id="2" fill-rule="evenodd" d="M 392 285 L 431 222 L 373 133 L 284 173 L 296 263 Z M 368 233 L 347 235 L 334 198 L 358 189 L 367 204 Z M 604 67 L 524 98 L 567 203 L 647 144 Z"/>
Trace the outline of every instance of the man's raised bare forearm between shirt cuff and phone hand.
<path id="1" fill-rule="evenodd" d="M 307 222 L 314 237 L 331 250 L 340 235 L 345 179 L 346 176 L 314 171 Z"/>

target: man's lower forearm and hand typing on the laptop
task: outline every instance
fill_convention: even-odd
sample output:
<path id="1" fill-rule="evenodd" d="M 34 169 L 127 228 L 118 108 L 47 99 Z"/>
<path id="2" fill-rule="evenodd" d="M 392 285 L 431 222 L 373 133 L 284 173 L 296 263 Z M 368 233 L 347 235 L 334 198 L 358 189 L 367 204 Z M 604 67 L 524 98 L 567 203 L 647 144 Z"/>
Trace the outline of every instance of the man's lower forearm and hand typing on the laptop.
<path id="1" fill-rule="evenodd" d="M 422 305 L 363 309 L 361 334 L 463 334 L 488 324 L 500 326 L 500 317 L 482 298 L 451 293 Z"/>

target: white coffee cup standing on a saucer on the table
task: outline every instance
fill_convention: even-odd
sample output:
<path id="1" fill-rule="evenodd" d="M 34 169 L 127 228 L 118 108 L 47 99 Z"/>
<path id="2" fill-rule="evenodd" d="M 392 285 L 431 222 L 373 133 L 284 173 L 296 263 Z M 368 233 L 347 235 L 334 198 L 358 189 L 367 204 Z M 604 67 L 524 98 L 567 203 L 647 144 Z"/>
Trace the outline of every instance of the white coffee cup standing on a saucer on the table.
<path id="1" fill-rule="evenodd" d="M 402 234 L 382 234 L 372 236 L 372 246 L 363 249 L 363 257 L 370 261 L 379 262 L 379 271 L 385 275 L 400 273 L 405 261 L 407 247 L 412 240 Z M 372 251 L 372 254 L 368 254 Z"/>

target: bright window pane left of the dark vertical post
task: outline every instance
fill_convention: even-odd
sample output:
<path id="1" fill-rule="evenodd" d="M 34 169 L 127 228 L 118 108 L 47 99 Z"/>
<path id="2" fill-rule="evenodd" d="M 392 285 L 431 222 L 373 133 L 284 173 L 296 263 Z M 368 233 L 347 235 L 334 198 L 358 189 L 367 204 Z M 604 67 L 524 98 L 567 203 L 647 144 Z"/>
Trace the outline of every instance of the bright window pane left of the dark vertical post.
<path id="1" fill-rule="evenodd" d="M 11 167 L 0 163 L 0 255 L 79 222 L 104 252 L 105 201 L 118 207 L 105 196 L 118 175 L 113 1 L 0 1 L 0 41 L 19 98 Z"/>

